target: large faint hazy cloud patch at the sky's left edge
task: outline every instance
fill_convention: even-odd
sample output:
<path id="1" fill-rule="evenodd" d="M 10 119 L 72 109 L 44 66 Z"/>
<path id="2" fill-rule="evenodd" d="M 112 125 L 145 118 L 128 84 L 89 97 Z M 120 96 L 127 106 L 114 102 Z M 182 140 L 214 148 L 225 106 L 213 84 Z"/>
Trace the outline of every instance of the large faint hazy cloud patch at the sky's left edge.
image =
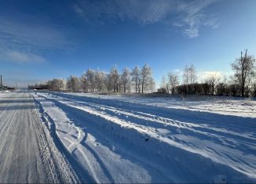
<path id="1" fill-rule="evenodd" d="M 0 17 L 0 62 L 45 63 L 43 53 L 65 42 L 62 32 L 46 23 Z"/>

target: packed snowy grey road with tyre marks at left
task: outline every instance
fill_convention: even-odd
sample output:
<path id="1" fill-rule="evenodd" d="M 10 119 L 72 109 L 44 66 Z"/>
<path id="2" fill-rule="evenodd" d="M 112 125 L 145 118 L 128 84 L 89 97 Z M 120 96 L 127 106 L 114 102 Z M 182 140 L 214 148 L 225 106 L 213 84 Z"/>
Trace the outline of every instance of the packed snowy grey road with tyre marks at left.
<path id="1" fill-rule="evenodd" d="M 78 182 L 27 92 L 0 97 L 0 183 Z"/>

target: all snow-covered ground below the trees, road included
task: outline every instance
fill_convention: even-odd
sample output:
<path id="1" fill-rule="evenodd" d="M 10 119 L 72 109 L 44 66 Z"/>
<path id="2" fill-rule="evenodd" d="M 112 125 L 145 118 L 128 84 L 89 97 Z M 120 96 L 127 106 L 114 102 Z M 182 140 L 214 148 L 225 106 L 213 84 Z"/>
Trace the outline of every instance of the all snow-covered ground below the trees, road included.
<path id="1" fill-rule="evenodd" d="M 154 100 L 0 93 L 0 182 L 256 182 L 254 101 Z"/>

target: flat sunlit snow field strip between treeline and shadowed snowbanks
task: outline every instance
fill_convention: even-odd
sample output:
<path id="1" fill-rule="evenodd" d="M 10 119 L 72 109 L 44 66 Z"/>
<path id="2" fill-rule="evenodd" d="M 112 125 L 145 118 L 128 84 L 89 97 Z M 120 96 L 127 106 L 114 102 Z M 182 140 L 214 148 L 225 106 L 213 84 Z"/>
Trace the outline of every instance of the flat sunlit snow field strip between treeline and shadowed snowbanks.
<path id="1" fill-rule="evenodd" d="M 243 117 L 256 117 L 256 100 L 225 96 L 180 96 L 148 97 L 140 95 L 105 96 L 90 93 L 69 93 L 73 96 L 87 96 L 98 99 L 115 99 L 130 103 L 141 103 L 166 108 L 196 110 L 217 114 L 227 114 Z"/>

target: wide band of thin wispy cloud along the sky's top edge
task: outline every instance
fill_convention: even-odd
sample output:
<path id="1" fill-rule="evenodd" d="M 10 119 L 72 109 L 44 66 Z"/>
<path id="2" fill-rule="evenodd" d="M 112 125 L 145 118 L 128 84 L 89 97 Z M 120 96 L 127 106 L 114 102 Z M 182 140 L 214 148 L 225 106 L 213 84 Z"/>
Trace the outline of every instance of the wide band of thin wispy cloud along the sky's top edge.
<path id="1" fill-rule="evenodd" d="M 126 0 L 80 1 L 75 13 L 89 23 L 115 23 L 116 20 L 135 20 L 141 25 L 167 22 L 181 27 L 189 38 L 199 36 L 199 27 L 218 27 L 218 19 L 204 12 L 216 0 Z"/>

